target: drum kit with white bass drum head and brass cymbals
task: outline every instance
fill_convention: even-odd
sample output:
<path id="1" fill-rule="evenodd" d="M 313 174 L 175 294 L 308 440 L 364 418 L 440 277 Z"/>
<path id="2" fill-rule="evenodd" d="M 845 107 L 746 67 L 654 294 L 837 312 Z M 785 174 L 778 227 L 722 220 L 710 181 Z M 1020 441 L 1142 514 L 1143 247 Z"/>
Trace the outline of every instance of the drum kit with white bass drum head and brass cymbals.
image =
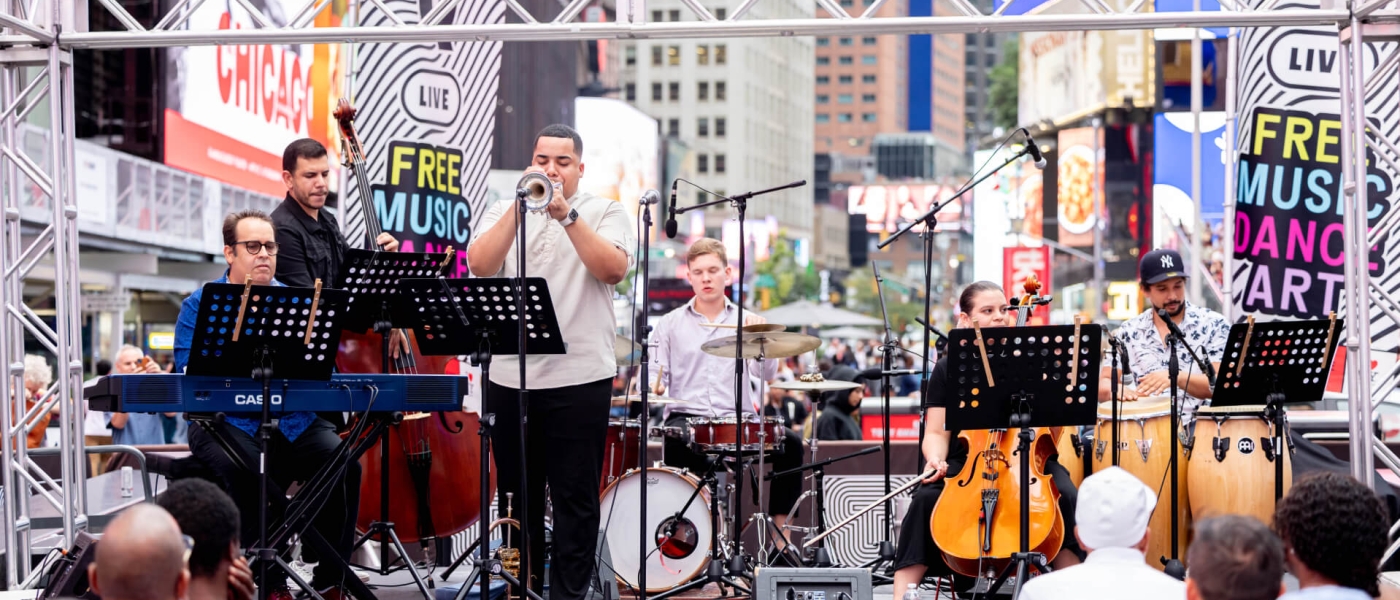
<path id="1" fill-rule="evenodd" d="M 707 323 L 717 329 L 736 329 L 732 324 Z M 784 331 L 781 324 L 749 324 L 741 331 L 742 358 L 788 358 L 809 352 L 820 345 L 820 340 L 801 333 Z M 736 344 L 732 337 L 701 344 L 706 354 L 735 358 Z M 636 344 L 617 340 L 617 364 L 630 366 L 640 357 Z M 631 357 L 629 362 L 627 358 Z M 820 375 L 802 375 L 798 380 L 773 383 L 776 389 L 820 393 L 829 390 L 850 390 L 860 387 L 854 382 L 826 382 Z M 638 396 L 619 396 L 616 404 L 640 403 Z M 650 396 L 650 404 L 680 404 L 682 400 Z M 645 418 L 645 417 L 643 417 Z M 675 438 L 686 442 L 696 452 L 714 460 L 707 473 L 692 473 L 668 466 L 641 469 L 643 457 L 638 436 L 645 429 L 643 418 L 616 418 L 609 422 L 606 448 L 603 452 L 603 477 L 601 481 L 601 522 L 612 554 L 612 571 L 617 580 L 636 587 L 637 573 L 647 569 L 647 593 L 669 597 L 706 583 L 734 585 L 724 576 L 725 565 L 742 555 L 739 536 L 729 531 L 729 520 L 739 509 L 738 502 L 720 494 L 717 471 L 731 471 L 731 476 L 745 473 L 756 466 L 763 471 L 764 459 L 778 452 L 784 438 L 784 425 L 776 417 L 745 414 L 735 417 L 692 417 L 685 428 L 652 427 L 647 429 L 651 439 Z M 813 417 L 815 418 L 815 417 Z M 734 456 L 741 456 L 734 464 Z M 637 487 L 648 485 L 645 523 L 636 519 L 638 506 Z M 804 497 L 805 498 L 805 497 Z M 763 506 L 762 490 L 759 506 Z M 616 519 L 613 516 L 617 516 Z M 752 520 L 760 520 L 771 527 L 771 519 L 755 513 Z M 638 527 L 644 527 L 638 530 Z M 776 527 L 774 527 L 776 530 Z M 637 540 L 648 531 L 644 554 Z M 732 536 L 732 537 L 731 537 Z M 785 536 L 785 533 L 784 533 Z M 759 534 L 759 557 L 766 554 L 767 536 Z M 752 562 L 749 562 L 752 564 Z M 731 568 L 731 572 L 735 569 Z"/>

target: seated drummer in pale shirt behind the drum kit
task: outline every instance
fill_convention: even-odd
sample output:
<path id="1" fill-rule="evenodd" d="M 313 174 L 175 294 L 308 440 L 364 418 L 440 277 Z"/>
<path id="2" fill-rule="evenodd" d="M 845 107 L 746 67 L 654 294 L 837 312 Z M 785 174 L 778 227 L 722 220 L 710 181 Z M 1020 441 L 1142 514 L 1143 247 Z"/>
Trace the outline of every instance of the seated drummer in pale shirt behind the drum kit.
<path id="1" fill-rule="evenodd" d="M 680 404 L 666 407 L 666 427 L 685 432 L 690 418 L 734 418 L 734 359 L 706 354 L 700 345 L 721 337 L 734 338 L 734 329 L 708 327 L 703 323 L 736 324 L 738 309 L 724 297 L 725 285 L 734 283 L 734 267 L 718 239 L 703 238 L 686 252 L 686 277 L 696 297 L 671 310 L 657 322 L 651 340 L 651 372 L 659 373 L 655 392 L 665 393 Z M 743 313 L 743 324 L 766 323 L 752 312 Z M 756 414 L 762 396 L 759 383 L 771 382 L 778 375 L 778 361 L 749 361 L 749 380 L 743 386 L 743 414 Z M 756 375 L 756 378 L 755 378 Z M 773 473 L 802 464 L 802 438 L 787 428 L 773 455 Z M 665 463 L 672 467 L 704 473 L 708 459 L 682 439 L 665 439 Z M 802 491 L 801 474 L 774 478 L 769 487 L 769 515 L 781 530 L 787 513 Z"/>

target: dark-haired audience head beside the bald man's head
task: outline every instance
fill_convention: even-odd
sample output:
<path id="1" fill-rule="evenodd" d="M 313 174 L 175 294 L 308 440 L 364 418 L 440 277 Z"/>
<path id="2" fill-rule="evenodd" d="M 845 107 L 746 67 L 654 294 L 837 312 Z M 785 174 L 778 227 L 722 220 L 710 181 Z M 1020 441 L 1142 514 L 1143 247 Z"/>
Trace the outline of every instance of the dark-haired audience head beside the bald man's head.
<path id="1" fill-rule="evenodd" d="M 220 587 L 227 585 L 228 565 L 238 555 L 238 506 L 218 485 L 204 480 L 181 480 L 157 499 L 179 530 L 195 540 L 189 554 L 189 575 Z"/>

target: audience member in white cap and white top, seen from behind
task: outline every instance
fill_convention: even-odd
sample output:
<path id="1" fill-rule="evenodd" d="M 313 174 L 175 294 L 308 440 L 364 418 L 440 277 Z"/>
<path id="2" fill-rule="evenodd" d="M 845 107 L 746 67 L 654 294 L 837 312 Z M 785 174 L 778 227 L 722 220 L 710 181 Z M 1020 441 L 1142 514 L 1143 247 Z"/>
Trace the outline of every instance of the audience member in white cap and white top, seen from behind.
<path id="1" fill-rule="evenodd" d="M 1074 534 L 1089 552 L 1082 565 L 1026 582 L 1021 600 L 1113 599 L 1180 600 L 1186 585 L 1147 565 L 1147 523 L 1156 494 L 1119 467 L 1084 478 L 1075 506 Z"/>

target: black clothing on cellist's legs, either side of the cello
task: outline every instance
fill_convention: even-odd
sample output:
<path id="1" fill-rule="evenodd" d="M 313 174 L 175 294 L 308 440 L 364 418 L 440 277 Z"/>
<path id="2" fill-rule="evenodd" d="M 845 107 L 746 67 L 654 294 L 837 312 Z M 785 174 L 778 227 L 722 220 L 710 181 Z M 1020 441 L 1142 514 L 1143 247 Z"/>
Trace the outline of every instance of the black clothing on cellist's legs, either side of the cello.
<path id="1" fill-rule="evenodd" d="M 959 442 L 955 441 L 953 443 Z M 944 562 L 942 551 L 934 544 L 934 533 L 930 529 L 930 523 L 932 522 L 934 506 L 938 505 L 938 498 L 944 492 L 944 484 L 958 481 L 962 469 L 962 464 L 949 464 L 949 473 L 942 480 L 927 485 L 920 484 L 914 490 L 914 495 L 909 501 L 909 512 L 904 513 L 904 520 L 900 522 L 899 543 L 895 544 L 895 571 L 913 565 L 925 565 L 928 566 L 927 576 L 953 575 L 952 569 Z M 1074 481 L 1070 480 L 1070 471 L 1060 464 L 1058 456 L 1051 456 L 1046 460 L 1044 469 L 1060 491 L 1058 505 L 1060 513 L 1064 517 L 1065 531 L 1064 544 L 1060 548 L 1074 552 L 1079 559 L 1084 559 L 1084 550 L 1079 548 L 1079 541 L 1074 536 L 1074 508 L 1078 502 L 1079 491 L 1074 487 Z M 977 523 L 967 523 L 967 526 L 976 527 Z M 958 583 L 955 583 L 956 586 Z"/>

